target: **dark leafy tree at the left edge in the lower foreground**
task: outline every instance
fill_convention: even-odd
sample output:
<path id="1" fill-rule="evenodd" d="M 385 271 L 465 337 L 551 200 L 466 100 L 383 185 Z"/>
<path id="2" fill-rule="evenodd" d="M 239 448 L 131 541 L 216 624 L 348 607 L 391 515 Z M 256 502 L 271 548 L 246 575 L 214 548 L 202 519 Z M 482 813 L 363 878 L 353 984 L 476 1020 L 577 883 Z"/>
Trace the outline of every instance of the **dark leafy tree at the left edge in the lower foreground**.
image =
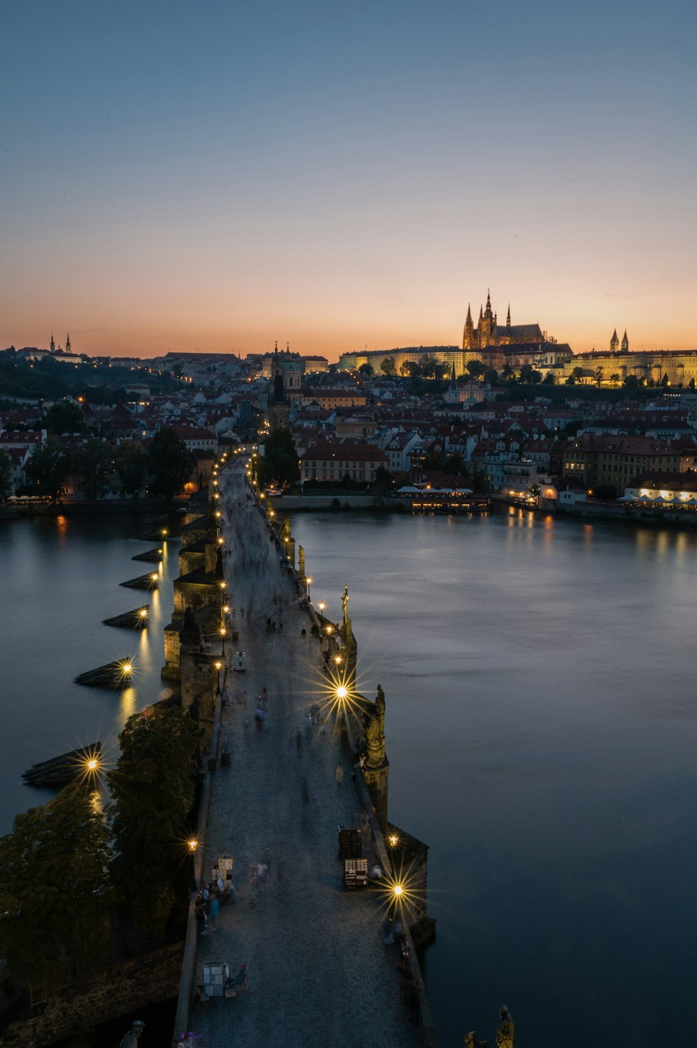
<path id="1" fill-rule="evenodd" d="M 84 785 L 30 808 L 0 839 L 0 954 L 25 986 L 57 989 L 65 960 L 100 959 L 108 942 L 108 836 Z"/>

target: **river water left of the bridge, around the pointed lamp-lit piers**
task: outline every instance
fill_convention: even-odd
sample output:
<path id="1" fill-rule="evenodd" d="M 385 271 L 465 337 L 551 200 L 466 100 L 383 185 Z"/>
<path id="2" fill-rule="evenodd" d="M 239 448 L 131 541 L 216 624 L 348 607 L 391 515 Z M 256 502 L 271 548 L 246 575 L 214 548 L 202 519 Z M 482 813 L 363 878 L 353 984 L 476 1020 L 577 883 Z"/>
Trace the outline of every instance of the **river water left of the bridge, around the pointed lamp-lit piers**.
<path id="1" fill-rule="evenodd" d="M 162 547 L 160 587 L 153 592 L 118 584 L 157 569 L 132 561 L 157 542 L 134 541 L 146 518 L 59 517 L 0 522 L 0 833 L 13 818 L 53 795 L 25 786 L 31 764 L 101 740 L 106 760 L 126 718 L 167 694 L 162 628 L 172 617 L 172 580 L 178 540 Z M 103 626 L 102 619 L 150 604 L 150 628 Z M 134 686 L 83 687 L 73 678 L 129 656 Z"/>

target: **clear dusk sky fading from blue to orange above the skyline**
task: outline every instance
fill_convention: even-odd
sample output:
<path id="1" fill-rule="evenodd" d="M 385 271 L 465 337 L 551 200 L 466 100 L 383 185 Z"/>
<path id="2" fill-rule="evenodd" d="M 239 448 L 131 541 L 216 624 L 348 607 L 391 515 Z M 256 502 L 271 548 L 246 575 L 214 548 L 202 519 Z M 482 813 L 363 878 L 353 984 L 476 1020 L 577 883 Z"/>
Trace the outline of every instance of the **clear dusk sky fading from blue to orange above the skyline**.
<path id="1" fill-rule="evenodd" d="M 696 349 L 696 12 L 8 0 L 0 348 Z"/>

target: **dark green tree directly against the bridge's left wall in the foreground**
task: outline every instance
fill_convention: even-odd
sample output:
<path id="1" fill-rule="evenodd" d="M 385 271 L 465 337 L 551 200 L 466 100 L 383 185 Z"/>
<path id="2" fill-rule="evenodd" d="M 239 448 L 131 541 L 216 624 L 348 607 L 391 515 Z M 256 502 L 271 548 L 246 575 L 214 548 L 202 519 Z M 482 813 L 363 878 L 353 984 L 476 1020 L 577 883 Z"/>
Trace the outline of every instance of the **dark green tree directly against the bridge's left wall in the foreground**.
<path id="1" fill-rule="evenodd" d="M 194 800 L 197 728 L 182 709 L 155 707 L 149 717 L 129 717 L 118 742 L 121 757 L 107 774 L 112 882 L 137 923 L 161 935 L 186 876 L 179 860 Z"/>

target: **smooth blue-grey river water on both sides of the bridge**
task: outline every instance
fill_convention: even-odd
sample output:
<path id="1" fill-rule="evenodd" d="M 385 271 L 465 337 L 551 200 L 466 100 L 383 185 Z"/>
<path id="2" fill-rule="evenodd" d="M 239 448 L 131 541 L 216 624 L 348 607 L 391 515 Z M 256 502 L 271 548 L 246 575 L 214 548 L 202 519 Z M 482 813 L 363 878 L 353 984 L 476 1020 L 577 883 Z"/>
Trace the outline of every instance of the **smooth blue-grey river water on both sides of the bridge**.
<path id="1" fill-rule="evenodd" d="M 5 673 L 0 831 L 47 791 L 35 761 L 101 738 L 164 691 L 161 627 L 177 546 L 153 596 L 143 524 L 0 524 Z M 687 1043 L 697 882 L 697 537 L 525 517 L 299 515 L 314 602 L 387 696 L 390 815 L 428 842 L 426 958 L 442 1048 Z M 155 545 L 150 543 L 150 545 Z M 151 599 L 143 635 L 101 620 Z M 124 693 L 75 674 L 122 655 Z M 689 1038 L 688 1038 L 689 1040 Z"/>

